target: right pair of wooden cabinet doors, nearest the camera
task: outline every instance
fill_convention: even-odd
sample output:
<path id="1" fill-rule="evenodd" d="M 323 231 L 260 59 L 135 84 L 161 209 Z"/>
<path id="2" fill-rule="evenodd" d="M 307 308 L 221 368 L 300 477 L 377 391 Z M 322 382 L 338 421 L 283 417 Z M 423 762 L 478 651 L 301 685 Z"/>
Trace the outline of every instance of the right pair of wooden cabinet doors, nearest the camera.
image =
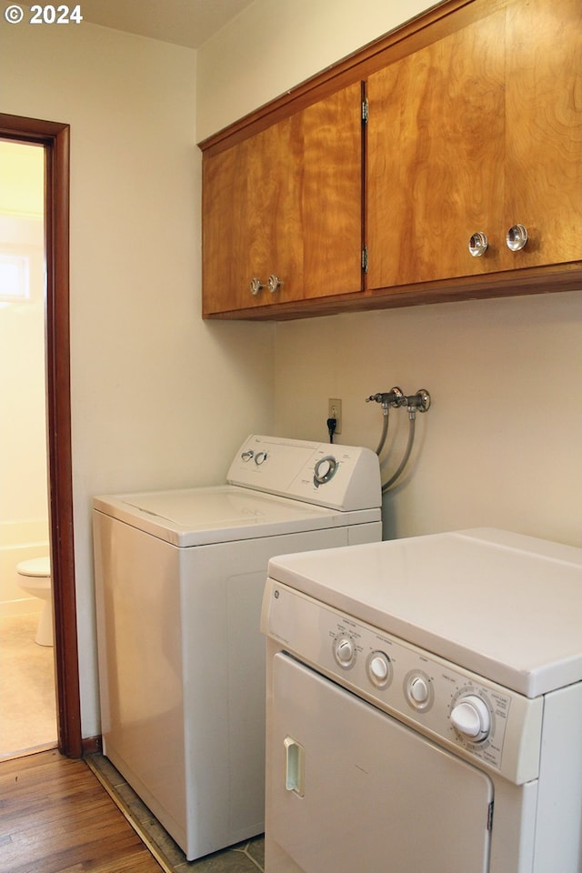
<path id="1" fill-rule="evenodd" d="M 582 257 L 581 10 L 476 0 L 456 32 L 370 75 L 368 287 Z M 467 247 L 477 231 L 482 257 Z"/>

